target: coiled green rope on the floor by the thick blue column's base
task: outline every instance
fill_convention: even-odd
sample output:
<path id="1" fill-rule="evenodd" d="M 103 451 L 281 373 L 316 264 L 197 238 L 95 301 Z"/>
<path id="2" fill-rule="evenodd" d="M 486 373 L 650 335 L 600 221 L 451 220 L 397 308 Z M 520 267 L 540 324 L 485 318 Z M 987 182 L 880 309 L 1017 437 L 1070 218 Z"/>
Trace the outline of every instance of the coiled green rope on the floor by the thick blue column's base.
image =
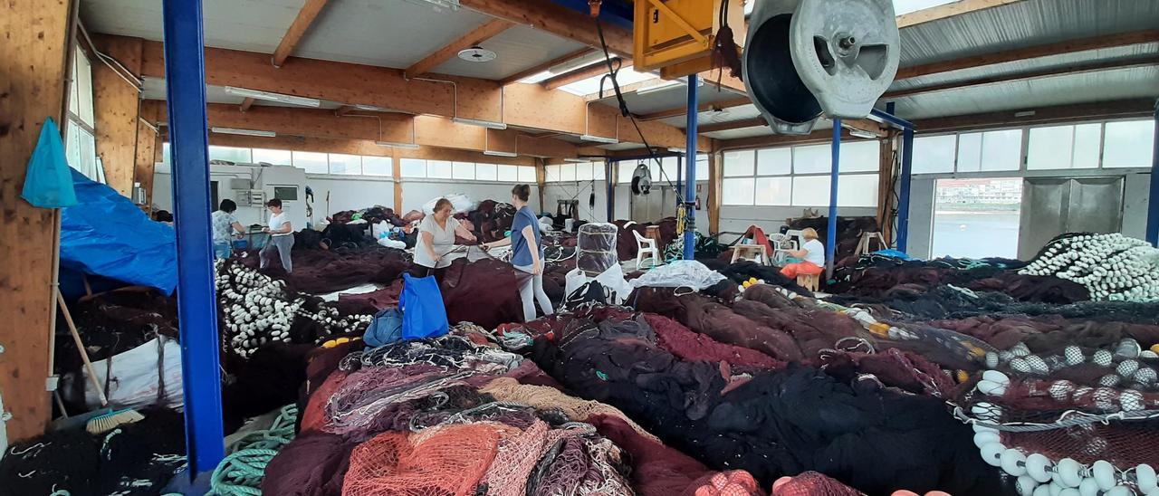
<path id="1" fill-rule="evenodd" d="M 231 444 L 227 455 L 213 471 L 210 479 L 211 495 L 260 496 L 265 466 L 282 446 L 293 440 L 293 426 L 298 421 L 298 407 L 282 407 L 274 424 L 265 430 L 256 430 Z"/>

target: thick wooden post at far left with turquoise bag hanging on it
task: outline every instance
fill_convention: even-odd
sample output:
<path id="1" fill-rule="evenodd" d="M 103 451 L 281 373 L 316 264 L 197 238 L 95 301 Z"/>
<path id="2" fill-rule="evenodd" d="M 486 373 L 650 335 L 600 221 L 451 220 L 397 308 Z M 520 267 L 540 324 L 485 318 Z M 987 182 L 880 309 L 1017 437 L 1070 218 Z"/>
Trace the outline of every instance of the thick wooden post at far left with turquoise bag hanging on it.
<path id="1" fill-rule="evenodd" d="M 9 443 L 44 432 L 52 301 L 53 216 L 20 197 L 28 159 L 49 117 L 59 119 L 68 78 L 70 2 L 14 0 L 0 15 L 0 394 Z M 65 123 L 59 122 L 60 129 Z"/>

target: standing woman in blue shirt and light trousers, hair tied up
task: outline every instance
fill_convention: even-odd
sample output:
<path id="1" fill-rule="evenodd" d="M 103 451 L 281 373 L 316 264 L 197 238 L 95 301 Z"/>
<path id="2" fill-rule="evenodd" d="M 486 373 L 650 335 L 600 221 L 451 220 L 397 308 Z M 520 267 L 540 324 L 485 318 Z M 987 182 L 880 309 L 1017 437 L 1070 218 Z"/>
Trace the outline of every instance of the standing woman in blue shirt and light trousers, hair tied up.
<path id="1" fill-rule="evenodd" d="M 523 300 L 524 322 L 535 320 L 535 301 L 539 301 L 544 315 L 555 313 L 552 300 L 544 292 L 544 246 L 539 232 L 539 220 L 535 212 L 527 206 L 531 187 L 516 184 L 511 188 L 511 204 L 516 207 L 515 220 L 511 223 L 511 236 L 483 245 L 484 249 L 511 246 L 511 265 L 525 272 L 519 277 L 519 299 Z M 532 298 L 534 297 L 534 298 Z"/>

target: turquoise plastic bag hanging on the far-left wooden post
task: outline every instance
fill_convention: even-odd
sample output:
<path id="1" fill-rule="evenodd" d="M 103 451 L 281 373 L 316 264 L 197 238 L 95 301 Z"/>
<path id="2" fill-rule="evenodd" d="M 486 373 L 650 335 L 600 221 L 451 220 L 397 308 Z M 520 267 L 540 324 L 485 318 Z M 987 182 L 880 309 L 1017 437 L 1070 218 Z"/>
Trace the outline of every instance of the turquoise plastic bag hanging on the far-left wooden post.
<path id="1" fill-rule="evenodd" d="M 24 190 L 20 194 L 32 206 L 59 209 L 76 204 L 72 169 L 65 159 L 65 145 L 60 143 L 60 130 L 49 117 L 41 126 L 41 138 L 28 160 Z"/>

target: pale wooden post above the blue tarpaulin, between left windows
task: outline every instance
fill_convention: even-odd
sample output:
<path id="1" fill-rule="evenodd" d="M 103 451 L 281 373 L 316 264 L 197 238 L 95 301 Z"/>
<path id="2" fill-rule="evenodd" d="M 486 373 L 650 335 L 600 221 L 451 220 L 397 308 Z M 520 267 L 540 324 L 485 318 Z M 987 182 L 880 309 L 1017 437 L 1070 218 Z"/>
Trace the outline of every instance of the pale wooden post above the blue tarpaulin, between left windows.
<path id="1" fill-rule="evenodd" d="M 141 38 L 97 37 L 97 49 L 112 57 L 133 76 L 140 76 Z M 138 88 L 104 64 L 93 60 L 93 116 L 96 118 L 96 154 L 104 177 L 117 192 L 132 197 L 137 169 Z"/>

